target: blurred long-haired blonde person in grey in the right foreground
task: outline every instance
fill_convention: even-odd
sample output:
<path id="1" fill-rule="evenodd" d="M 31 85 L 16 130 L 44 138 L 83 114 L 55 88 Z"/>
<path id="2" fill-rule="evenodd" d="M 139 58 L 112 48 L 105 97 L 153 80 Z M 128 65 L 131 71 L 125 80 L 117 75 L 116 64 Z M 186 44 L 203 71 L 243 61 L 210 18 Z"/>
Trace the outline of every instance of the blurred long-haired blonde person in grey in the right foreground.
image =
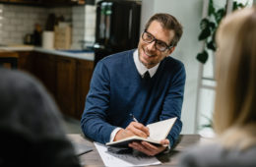
<path id="1" fill-rule="evenodd" d="M 213 143 L 180 156 L 180 167 L 256 166 L 256 8 L 228 15 L 217 32 Z"/>

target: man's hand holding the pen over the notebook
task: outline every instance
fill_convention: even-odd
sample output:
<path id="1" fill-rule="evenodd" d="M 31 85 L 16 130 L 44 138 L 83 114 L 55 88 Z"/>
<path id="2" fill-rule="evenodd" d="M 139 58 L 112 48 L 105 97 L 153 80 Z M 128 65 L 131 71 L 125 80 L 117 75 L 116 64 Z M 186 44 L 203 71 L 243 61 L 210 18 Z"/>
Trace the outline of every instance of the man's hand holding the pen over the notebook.
<path id="1" fill-rule="evenodd" d="M 150 136 L 150 130 L 141 123 L 131 122 L 126 129 L 118 131 L 114 137 L 115 140 L 126 139 L 132 136 L 139 136 L 142 138 L 148 138 Z"/>

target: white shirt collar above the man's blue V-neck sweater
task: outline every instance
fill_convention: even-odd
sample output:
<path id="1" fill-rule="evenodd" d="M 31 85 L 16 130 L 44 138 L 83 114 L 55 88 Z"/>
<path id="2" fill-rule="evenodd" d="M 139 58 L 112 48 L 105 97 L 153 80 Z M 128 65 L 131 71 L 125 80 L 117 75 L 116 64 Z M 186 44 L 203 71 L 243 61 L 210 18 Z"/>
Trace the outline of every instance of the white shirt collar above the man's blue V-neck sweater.
<path id="1" fill-rule="evenodd" d="M 139 53 L 138 53 L 138 49 L 136 49 L 134 52 L 133 52 L 133 60 L 134 60 L 134 63 L 135 63 L 135 66 L 139 72 L 139 74 L 143 77 L 144 74 L 149 71 L 150 75 L 151 75 L 151 78 L 156 74 L 159 66 L 160 66 L 160 63 L 158 63 L 156 66 L 154 66 L 153 68 L 151 69 L 148 69 L 147 67 L 145 67 L 142 62 L 139 60 Z"/>

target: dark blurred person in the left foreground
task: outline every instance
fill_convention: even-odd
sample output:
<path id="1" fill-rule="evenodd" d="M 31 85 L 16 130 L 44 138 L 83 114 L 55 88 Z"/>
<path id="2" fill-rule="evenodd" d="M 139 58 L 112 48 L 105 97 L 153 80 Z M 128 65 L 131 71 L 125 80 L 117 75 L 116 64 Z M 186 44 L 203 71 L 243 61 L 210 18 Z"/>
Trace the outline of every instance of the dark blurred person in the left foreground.
<path id="1" fill-rule="evenodd" d="M 31 76 L 0 68 L 0 109 L 0 166 L 80 166 L 57 106 Z"/>

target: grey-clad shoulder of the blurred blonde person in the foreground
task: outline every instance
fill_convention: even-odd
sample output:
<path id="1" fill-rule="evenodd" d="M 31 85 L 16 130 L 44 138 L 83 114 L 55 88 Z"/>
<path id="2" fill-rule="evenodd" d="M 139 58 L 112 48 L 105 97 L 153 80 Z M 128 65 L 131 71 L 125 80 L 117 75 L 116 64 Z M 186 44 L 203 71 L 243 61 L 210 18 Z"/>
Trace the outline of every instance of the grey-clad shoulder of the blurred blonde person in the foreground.
<path id="1" fill-rule="evenodd" d="M 256 145 L 246 150 L 225 149 L 219 143 L 194 145 L 178 155 L 178 167 L 253 167 Z"/>

